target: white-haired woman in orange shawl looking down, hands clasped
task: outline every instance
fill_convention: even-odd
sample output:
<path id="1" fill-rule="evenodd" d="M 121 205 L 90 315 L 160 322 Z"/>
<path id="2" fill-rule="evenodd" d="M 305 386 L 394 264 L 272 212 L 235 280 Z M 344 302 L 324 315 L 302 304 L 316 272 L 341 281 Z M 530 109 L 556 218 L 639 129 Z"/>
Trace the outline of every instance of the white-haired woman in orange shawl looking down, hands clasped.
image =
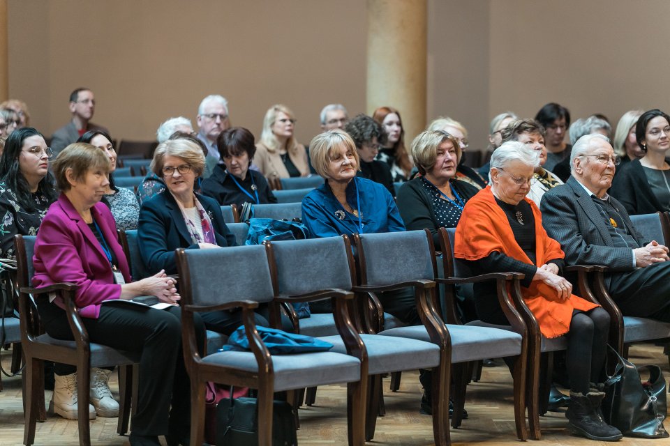
<path id="1" fill-rule="evenodd" d="M 609 315 L 573 295 L 572 284 L 560 276 L 563 251 L 547 236 L 539 209 L 526 198 L 538 162 L 537 152 L 517 141 L 493 152 L 490 185 L 466 203 L 456 226 L 454 256 L 468 261 L 475 272 L 523 272 L 523 300 L 542 334 L 567 334 L 570 427 L 593 440 L 618 440 L 620 431 L 598 415 L 604 394 L 591 384 L 601 382 Z M 475 287 L 475 297 L 483 321 L 507 324 L 494 289 Z"/>

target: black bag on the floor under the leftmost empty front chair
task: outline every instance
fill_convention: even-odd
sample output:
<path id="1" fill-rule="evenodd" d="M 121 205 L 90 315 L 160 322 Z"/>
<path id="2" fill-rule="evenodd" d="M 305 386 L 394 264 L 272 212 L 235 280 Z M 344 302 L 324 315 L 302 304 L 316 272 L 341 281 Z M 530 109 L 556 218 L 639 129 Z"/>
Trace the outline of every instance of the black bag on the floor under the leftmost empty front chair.
<path id="1" fill-rule="evenodd" d="M 286 401 L 272 406 L 272 446 L 297 446 L 295 417 Z M 222 399 L 216 406 L 216 446 L 258 445 L 258 401 L 255 398 Z"/>

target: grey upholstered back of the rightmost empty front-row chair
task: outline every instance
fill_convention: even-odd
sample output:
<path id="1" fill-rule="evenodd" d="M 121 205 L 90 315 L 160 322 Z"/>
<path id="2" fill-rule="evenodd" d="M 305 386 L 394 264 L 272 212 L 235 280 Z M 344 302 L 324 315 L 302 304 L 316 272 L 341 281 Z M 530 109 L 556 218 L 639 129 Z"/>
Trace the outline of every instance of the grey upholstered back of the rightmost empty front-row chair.
<path id="1" fill-rule="evenodd" d="M 368 285 L 433 280 L 433 250 L 425 231 L 361 234 Z"/>

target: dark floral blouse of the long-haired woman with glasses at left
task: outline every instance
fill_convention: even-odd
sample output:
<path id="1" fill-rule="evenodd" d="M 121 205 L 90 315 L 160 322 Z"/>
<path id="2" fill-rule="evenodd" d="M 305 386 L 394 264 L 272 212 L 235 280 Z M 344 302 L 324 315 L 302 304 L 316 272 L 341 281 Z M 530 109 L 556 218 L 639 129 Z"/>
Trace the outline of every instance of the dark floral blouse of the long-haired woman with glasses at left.
<path id="1" fill-rule="evenodd" d="M 40 224 L 49 210 L 51 201 L 38 190 L 32 194 L 35 210 L 28 212 L 22 208 L 13 190 L 4 182 L 0 183 L 0 257 L 14 259 L 14 236 L 36 236 Z"/>

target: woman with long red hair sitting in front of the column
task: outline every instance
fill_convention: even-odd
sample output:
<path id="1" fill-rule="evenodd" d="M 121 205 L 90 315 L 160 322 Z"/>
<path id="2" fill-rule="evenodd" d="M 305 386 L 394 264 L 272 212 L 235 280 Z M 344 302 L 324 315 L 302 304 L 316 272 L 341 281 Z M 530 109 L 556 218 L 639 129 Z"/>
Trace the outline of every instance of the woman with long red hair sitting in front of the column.
<path id="1" fill-rule="evenodd" d="M 409 180 L 414 166 L 405 148 L 405 129 L 400 112 L 393 107 L 379 107 L 372 118 L 380 123 L 386 134 L 386 141 L 380 141 L 384 146 L 379 149 L 376 159 L 389 165 L 394 182 Z"/>

